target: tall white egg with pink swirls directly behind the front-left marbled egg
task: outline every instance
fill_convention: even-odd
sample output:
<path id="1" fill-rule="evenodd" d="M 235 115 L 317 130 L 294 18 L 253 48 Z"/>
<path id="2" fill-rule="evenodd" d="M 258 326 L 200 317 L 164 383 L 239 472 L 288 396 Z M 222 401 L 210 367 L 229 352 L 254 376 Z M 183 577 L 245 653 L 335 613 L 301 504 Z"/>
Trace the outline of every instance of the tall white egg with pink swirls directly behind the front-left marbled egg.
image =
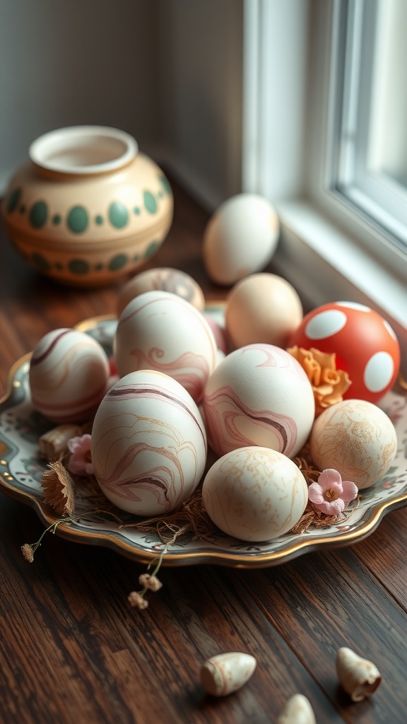
<path id="1" fill-rule="evenodd" d="M 171 292 L 145 292 L 127 304 L 115 337 L 119 376 L 155 369 L 198 402 L 217 364 L 217 344 L 201 314 Z"/>

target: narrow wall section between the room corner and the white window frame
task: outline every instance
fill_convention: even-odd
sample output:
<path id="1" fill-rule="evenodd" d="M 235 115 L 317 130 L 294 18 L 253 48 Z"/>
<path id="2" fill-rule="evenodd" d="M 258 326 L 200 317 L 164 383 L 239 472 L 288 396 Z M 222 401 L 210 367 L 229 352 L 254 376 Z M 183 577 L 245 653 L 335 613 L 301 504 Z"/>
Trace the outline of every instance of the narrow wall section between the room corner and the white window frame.
<path id="1" fill-rule="evenodd" d="M 208 209 L 240 191 L 243 1 L 161 0 L 161 140 Z"/>

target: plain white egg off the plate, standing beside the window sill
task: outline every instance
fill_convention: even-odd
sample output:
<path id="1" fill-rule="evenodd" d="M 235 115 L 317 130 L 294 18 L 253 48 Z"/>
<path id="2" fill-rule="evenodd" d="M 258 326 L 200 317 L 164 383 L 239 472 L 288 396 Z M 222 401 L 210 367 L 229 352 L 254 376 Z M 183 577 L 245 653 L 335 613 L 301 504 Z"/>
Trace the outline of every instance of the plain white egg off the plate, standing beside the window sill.
<path id="1" fill-rule="evenodd" d="M 255 193 L 228 198 L 204 232 L 204 266 L 217 284 L 231 285 L 269 263 L 280 234 L 274 206 Z"/>

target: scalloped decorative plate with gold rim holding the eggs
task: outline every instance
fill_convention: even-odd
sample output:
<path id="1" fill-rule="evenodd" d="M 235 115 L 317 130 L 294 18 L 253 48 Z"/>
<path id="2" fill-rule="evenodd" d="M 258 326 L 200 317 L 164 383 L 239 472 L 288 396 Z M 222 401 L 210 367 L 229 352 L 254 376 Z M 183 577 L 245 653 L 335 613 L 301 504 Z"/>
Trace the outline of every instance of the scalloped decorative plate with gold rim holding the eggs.
<path id="1" fill-rule="evenodd" d="M 209 304 L 207 313 L 222 323 L 223 306 Z M 112 353 L 112 340 L 117 321 L 112 317 L 88 319 L 77 325 Z M 41 476 L 46 462 L 38 452 L 38 437 L 51 428 L 31 403 L 28 371 L 30 355 L 17 361 L 9 372 L 7 395 L 0 402 L 0 490 L 25 502 L 36 510 L 41 521 L 50 526 L 58 518 L 45 505 L 41 495 Z M 371 534 L 383 516 L 407 505 L 407 395 L 396 387 L 383 398 L 380 407 L 390 416 L 398 435 L 398 452 L 387 474 L 371 488 L 361 491 L 361 502 L 345 521 L 303 534 L 285 534 L 271 542 L 254 544 L 219 535 L 213 542 L 182 536 L 165 552 L 163 565 L 214 563 L 239 568 L 261 568 L 277 565 L 311 550 L 323 550 L 360 541 Z M 77 508 L 81 517 L 62 522 L 56 534 L 80 543 L 110 547 L 140 563 L 148 563 L 159 555 L 162 543 L 156 534 L 123 528 L 106 515 L 93 512 L 86 493 L 81 494 Z M 121 518 L 123 514 L 117 511 Z M 128 516 L 131 522 L 131 516 Z M 135 516 L 133 516 L 135 520 Z M 139 520 L 139 519 L 138 519 Z"/>

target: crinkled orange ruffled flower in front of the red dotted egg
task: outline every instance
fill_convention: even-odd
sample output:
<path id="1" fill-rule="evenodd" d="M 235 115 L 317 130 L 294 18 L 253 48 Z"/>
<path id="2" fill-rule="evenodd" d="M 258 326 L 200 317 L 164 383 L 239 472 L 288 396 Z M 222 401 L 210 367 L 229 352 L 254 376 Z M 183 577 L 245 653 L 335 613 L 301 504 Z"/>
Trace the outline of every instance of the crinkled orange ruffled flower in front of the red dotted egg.
<path id="1" fill-rule="evenodd" d="M 290 355 L 301 364 L 311 382 L 315 398 L 315 414 L 319 415 L 325 408 L 340 403 L 343 395 L 352 382 L 348 372 L 336 369 L 335 352 L 327 354 L 314 347 L 304 350 L 302 347 L 289 347 Z"/>

